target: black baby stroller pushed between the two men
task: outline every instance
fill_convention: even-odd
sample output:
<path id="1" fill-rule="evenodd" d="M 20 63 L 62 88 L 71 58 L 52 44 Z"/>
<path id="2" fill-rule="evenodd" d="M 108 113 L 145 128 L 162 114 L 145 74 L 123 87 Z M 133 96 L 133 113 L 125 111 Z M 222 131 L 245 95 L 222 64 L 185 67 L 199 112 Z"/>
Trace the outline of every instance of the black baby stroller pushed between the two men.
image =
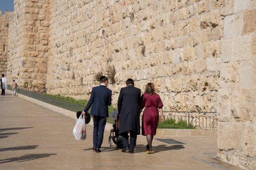
<path id="1" fill-rule="evenodd" d="M 123 140 L 122 137 L 120 135 L 118 135 L 119 133 L 119 122 L 120 121 L 120 117 L 118 117 L 118 110 L 115 110 L 113 112 L 113 129 L 110 130 L 110 135 L 108 138 L 108 143 L 109 146 L 111 146 L 111 139 L 113 140 L 113 142 L 115 143 L 115 149 L 117 150 L 118 148 L 123 148 Z"/>

